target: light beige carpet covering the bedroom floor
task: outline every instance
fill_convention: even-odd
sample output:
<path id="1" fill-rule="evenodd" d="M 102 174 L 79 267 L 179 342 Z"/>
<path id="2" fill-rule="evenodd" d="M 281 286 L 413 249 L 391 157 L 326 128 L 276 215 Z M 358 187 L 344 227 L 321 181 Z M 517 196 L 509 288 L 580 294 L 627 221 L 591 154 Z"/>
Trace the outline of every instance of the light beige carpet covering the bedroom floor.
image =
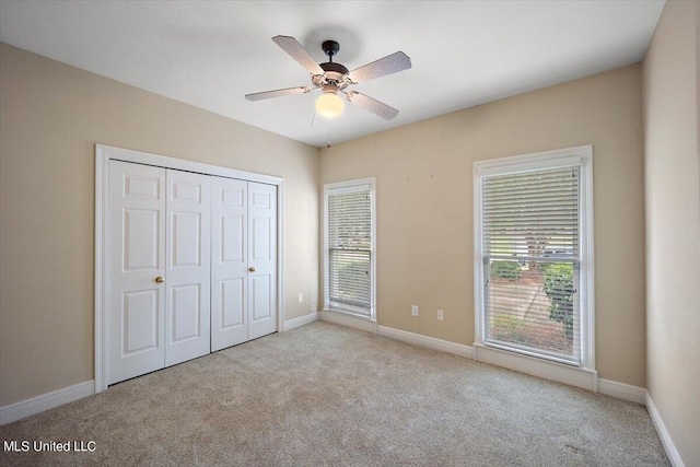
<path id="1" fill-rule="evenodd" d="M 0 428 L 0 465 L 666 466 L 644 407 L 314 323 Z"/>

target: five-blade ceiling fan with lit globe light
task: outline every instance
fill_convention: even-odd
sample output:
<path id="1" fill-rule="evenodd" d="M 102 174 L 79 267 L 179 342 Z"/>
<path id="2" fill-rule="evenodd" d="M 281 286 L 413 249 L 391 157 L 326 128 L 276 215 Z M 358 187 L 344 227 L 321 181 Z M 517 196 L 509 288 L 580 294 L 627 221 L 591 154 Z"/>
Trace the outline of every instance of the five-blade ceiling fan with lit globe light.
<path id="1" fill-rule="evenodd" d="M 411 59 L 402 51 L 397 51 L 381 58 L 376 61 L 357 68 L 352 71 L 332 61 L 332 57 L 340 50 L 340 44 L 335 40 L 325 40 L 322 44 L 324 52 L 328 56 L 325 63 L 316 63 L 302 45 L 290 36 L 275 36 L 272 42 L 280 46 L 294 60 L 301 63 L 310 73 L 312 86 L 287 87 L 282 90 L 266 91 L 254 94 L 246 94 L 248 101 L 260 101 L 270 97 L 280 97 L 292 94 L 305 94 L 315 90 L 323 91 L 323 95 L 316 100 L 316 112 L 324 117 L 332 118 L 342 114 L 345 104 L 338 96 L 341 93 L 351 104 L 370 110 L 371 113 L 390 120 L 398 115 L 396 108 L 389 107 L 370 96 L 357 91 L 346 92 L 351 84 L 358 84 L 375 78 L 385 77 L 398 71 L 411 68 Z"/>

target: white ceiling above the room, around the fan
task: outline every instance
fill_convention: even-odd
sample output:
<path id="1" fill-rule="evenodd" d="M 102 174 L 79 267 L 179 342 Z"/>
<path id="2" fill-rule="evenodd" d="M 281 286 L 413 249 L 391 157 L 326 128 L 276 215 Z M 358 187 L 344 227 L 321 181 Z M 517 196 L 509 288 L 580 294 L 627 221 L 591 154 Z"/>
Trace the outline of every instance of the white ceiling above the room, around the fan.
<path id="1" fill-rule="evenodd" d="M 316 147 L 383 131 L 640 61 L 663 0 L 609 1 L 9 1 L 0 40 Z M 325 39 L 350 70 L 397 50 L 410 70 L 352 86 L 399 109 L 353 105 L 314 118 L 317 93 L 270 38 L 295 37 L 319 62 Z M 313 127 L 312 127 L 313 120 Z"/>

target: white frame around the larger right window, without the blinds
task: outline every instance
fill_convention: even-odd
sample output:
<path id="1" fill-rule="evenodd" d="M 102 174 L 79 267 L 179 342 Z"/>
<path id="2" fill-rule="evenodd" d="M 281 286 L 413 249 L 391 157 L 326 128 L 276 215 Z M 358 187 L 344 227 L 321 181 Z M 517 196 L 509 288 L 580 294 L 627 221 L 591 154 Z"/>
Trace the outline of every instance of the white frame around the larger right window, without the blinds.
<path id="1" fill-rule="evenodd" d="M 486 341 L 486 291 L 483 279 L 483 223 L 482 223 L 482 182 L 487 176 L 517 174 L 536 170 L 551 170 L 559 167 L 580 167 L 579 192 L 579 235 L 580 235 L 580 339 L 581 363 L 562 362 L 545 354 L 504 348 Z M 556 366 L 573 366 L 575 369 L 595 372 L 595 296 L 594 296 L 594 245 L 593 245 L 593 147 L 581 145 L 561 150 L 499 157 L 474 163 L 474 295 L 475 295 L 475 357 L 479 350 L 488 349 L 506 352 L 497 357 L 498 360 L 511 359 L 508 354 L 525 359 L 551 363 Z M 488 353 L 488 351 L 487 351 Z M 511 359 L 515 367 L 520 367 L 518 358 Z M 483 359 L 487 361 L 489 359 Z M 525 363 L 530 365 L 530 363 Z M 505 364 L 509 366 L 509 364 Z M 532 366 L 532 365 L 530 365 Z M 549 370 L 545 370 L 547 372 Z M 565 376 L 562 376 L 564 380 Z M 564 381 L 565 382 L 565 381 Z M 595 383 L 594 383 L 595 385 Z"/>

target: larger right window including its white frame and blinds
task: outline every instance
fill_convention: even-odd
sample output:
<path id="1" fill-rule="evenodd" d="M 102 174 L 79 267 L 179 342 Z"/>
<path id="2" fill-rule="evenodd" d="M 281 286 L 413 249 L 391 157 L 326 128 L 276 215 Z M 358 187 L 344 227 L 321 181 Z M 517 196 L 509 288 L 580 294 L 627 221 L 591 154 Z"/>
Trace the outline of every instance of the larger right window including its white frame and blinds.
<path id="1" fill-rule="evenodd" d="M 593 370 L 591 147 L 475 163 L 477 343 Z"/>

